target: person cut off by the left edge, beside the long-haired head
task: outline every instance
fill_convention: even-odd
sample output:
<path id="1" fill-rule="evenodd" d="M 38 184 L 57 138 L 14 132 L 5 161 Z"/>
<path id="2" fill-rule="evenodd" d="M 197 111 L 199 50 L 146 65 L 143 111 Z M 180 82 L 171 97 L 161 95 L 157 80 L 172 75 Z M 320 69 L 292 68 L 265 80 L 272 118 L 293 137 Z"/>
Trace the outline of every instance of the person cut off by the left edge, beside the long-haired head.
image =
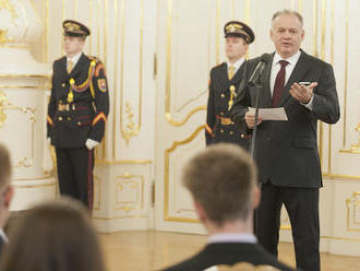
<path id="1" fill-rule="evenodd" d="M 11 185 L 11 160 L 8 149 L 0 143 L 0 256 L 3 247 L 8 243 L 8 237 L 3 232 L 10 216 L 10 203 L 14 196 L 14 188 Z"/>

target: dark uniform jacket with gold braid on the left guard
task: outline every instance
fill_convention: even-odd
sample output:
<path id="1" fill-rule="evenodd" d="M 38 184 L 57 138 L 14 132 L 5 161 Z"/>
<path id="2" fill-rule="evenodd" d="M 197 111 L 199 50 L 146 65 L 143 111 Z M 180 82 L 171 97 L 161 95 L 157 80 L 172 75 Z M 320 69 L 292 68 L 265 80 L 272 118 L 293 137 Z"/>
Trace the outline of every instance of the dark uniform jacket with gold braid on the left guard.
<path id="1" fill-rule="evenodd" d="M 73 103 L 70 110 L 58 110 L 68 104 L 74 80 Z M 82 148 L 87 139 L 101 141 L 109 113 L 109 92 L 101 61 L 84 54 L 70 74 L 67 57 L 53 62 L 51 97 L 48 106 L 47 137 L 59 148 Z"/>

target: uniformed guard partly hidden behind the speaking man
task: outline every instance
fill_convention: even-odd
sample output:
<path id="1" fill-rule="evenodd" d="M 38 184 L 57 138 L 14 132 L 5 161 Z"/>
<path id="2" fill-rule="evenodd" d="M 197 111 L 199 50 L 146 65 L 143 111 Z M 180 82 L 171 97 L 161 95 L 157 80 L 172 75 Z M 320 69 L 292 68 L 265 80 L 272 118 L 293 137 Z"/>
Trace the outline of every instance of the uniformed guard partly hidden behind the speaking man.
<path id="1" fill-rule="evenodd" d="M 206 145 L 218 142 L 236 143 L 249 149 L 249 136 L 231 121 L 230 109 L 244 70 L 244 56 L 254 42 L 253 31 L 242 22 L 231 21 L 224 26 L 227 62 L 211 71 L 207 118 L 205 126 Z"/>

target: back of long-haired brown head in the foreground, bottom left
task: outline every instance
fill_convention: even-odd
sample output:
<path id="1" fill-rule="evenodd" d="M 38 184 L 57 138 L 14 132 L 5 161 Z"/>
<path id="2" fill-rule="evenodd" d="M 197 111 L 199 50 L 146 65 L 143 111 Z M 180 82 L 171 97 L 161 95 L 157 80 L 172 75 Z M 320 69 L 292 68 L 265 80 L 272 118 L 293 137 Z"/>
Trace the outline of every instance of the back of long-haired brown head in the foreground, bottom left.
<path id="1" fill-rule="evenodd" d="M 26 211 L 10 231 L 2 271 L 103 271 L 96 233 L 86 209 L 72 199 Z"/>

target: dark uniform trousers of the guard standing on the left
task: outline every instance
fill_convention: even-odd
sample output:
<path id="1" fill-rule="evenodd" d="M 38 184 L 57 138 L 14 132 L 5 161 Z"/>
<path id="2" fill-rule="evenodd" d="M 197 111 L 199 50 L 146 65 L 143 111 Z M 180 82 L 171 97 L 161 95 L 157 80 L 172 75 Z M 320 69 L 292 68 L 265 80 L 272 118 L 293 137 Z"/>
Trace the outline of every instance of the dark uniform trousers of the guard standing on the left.
<path id="1" fill-rule="evenodd" d="M 82 201 L 93 210 L 94 150 L 57 148 L 60 193 Z"/>

